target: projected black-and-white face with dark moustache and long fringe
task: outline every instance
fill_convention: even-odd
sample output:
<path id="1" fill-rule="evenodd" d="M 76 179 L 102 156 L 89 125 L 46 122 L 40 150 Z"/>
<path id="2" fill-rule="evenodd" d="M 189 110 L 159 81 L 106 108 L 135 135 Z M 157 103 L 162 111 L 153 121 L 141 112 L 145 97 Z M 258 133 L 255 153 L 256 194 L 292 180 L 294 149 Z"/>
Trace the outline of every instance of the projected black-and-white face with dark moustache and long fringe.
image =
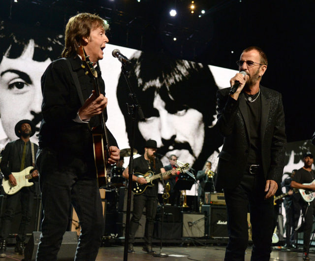
<path id="1" fill-rule="evenodd" d="M 158 153 L 167 157 L 175 154 L 181 162 L 202 167 L 221 145 L 216 141 L 218 134 L 212 135 L 218 87 L 209 67 L 142 52 L 136 52 L 130 60 L 134 66 L 129 80 L 145 116 L 136 126 L 137 150 L 143 151 L 145 140 L 152 138 L 157 140 Z M 130 140 L 130 120 L 126 116 L 129 100 L 123 75 L 117 97 Z M 168 164 L 166 157 L 162 161 Z"/>

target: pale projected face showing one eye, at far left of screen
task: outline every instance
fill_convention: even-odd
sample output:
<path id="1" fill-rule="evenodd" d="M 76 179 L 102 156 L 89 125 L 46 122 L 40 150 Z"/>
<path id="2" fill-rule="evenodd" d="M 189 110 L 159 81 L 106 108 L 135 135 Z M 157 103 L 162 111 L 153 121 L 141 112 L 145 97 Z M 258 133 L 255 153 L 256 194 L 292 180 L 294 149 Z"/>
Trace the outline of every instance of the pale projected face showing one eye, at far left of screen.
<path id="1" fill-rule="evenodd" d="M 14 127 L 20 120 L 35 121 L 39 128 L 42 102 L 40 77 L 51 60 L 37 62 L 32 60 L 33 54 L 34 41 L 31 40 L 19 58 L 3 56 L 0 63 L 0 116 L 10 140 L 17 138 Z"/>

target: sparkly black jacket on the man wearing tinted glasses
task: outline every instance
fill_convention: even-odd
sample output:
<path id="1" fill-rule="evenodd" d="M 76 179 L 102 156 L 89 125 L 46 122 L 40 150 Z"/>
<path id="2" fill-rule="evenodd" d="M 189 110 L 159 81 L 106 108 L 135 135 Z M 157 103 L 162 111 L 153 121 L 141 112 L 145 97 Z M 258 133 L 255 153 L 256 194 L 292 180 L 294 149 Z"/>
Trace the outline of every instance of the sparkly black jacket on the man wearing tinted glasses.
<path id="1" fill-rule="evenodd" d="M 260 86 L 261 90 L 261 163 L 265 179 L 281 182 L 285 156 L 285 127 L 282 96 Z M 229 96 L 230 88 L 218 90 L 218 122 L 224 137 L 219 154 L 217 191 L 235 188 L 247 166 L 250 148 L 249 118 L 244 94 L 238 100 Z"/>

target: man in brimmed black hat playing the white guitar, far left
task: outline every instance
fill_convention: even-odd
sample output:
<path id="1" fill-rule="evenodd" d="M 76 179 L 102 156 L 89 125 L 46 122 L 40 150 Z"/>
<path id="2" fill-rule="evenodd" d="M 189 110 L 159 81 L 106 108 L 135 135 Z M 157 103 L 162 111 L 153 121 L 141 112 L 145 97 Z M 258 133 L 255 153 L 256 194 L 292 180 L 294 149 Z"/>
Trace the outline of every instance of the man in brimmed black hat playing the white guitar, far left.
<path id="1" fill-rule="evenodd" d="M 32 206 L 34 201 L 34 190 L 32 187 L 23 187 L 23 178 L 18 173 L 25 168 L 35 165 L 35 155 L 38 146 L 30 141 L 30 137 L 35 134 L 35 125 L 30 120 L 19 121 L 15 125 L 15 134 L 19 139 L 6 144 L 2 151 L 2 160 L 0 163 L 1 171 L 4 175 L 8 186 L 16 188 L 21 186 L 16 193 L 8 195 L 6 198 L 6 211 L 3 214 L 2 223 L 0 226 L 0 257 L 6 256 L 6 240 L 9 236 L 13 217 L 16 208 L 21 203 L 22 219 L 20 222 L 18 236 L 16 239 L 15 252 L 20 255 L 24 254 L 24 241 L 26 239 L 26 228 L 31 223 Z M 14 174 L 12 173 L 14 172 Z M 38 177 L 37 169 L 32 168 L 32 177 Z M 9 192 L 8 192 L 9 194 Z"/>

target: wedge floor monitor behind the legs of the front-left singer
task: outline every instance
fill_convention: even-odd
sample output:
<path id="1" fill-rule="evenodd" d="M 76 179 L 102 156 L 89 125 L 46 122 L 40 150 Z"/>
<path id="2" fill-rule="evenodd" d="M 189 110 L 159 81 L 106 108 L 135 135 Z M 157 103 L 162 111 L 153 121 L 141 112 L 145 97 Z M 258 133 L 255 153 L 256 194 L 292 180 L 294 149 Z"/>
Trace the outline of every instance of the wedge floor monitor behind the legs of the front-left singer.
<path id="1" fill-rule="evenodd" d="M 33 232 L 24 251 L 25 261 L 35 261 L 41 232 Z M 78 245 L 76 232 L 66 231 L 63 235 L 63 242 L 58 252 L 58 261 L 73 261 Z"/>

